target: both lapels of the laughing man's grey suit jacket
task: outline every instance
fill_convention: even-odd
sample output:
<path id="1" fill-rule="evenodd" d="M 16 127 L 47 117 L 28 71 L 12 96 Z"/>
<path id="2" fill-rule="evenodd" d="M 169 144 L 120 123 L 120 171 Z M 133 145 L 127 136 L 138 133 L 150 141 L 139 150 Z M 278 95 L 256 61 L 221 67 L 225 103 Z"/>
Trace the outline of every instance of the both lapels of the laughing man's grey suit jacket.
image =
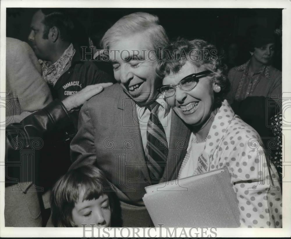
<path id="1" fill-rule="evenodd" d="M 145 154 L 139 128 L 139 119 L 136 114 L 136 105 L 134 101 L 123 92 L 121 87 L 116 107 L 122 110 L 122 127 L 125 135 L 129 137 L 135 135 L 135 143 L 139 142 L 139 145 L 136 145 L 136 147 L 130 150 L 127 162 L 139 162 L 141 165 L 145 165 Z M 180 166 L 187 153 L 190 135 L 191 131 L 172 110 L 169 155 L 166 159 L 166 167 L 161 179 L 162 181 L 170 181 L 178 177 Z M 141 166 L 140 168 L 145 179 L 150 182 L 148 167 Z"/>

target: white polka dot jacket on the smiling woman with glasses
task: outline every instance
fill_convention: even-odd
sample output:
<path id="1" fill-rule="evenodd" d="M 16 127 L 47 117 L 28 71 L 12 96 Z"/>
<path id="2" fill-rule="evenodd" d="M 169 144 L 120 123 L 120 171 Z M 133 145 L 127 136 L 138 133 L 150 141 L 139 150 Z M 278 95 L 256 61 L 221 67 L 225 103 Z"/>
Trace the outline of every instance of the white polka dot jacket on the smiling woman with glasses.
<path id="1" fill-rule="evenodd" d="M 202 153 L 209 157 L 210 171 L 228 167 L 241 227 L 282 227 L 277 170 L 266 159 L 258 133 L 234 114 L 226 100 L 215 116 Z"/>

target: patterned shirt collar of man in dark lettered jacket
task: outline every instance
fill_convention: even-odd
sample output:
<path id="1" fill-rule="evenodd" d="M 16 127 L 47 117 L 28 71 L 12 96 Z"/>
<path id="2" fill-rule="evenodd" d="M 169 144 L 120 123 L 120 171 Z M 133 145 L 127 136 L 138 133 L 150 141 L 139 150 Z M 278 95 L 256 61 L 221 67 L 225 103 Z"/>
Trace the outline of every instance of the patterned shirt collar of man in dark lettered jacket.
<path id="1" fill-rule="evenodd" d="M 67 65 L 70 65 L 74 53 L 76 50 L 71 43 L 70 46 L 64 51 L 63 55 L 61 55 L 58 60 L 49 66 L 47 61 L 39 60 L 42 65 L 42 77 L 47 81 L 50 85 L 55 85 L 60 76 L 63 74 L 64 69 Z"/>

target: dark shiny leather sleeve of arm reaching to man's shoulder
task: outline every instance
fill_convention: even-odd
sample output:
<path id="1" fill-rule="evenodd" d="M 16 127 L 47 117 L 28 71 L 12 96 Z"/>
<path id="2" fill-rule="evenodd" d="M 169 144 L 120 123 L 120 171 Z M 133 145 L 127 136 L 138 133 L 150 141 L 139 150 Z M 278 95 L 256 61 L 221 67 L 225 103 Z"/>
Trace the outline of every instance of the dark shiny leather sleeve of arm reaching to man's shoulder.
<path id="1" fill-rule="evenodd" d="M 69 122 L 70 115 L 63 103 L 56 99 L 45 108 L 27 116 L 20 123 L 6 127 L 6 182 L 19 178 L 19 165 L 29 152 L 37 158 L 43 146 L 43 135 L 55 129 L 57 124 Z M 25 153 L 25 154 L 24 154 Z M 26 156 L 24 156 L 26 155 Z M 16 167 L 17 166 L 17 167 Z"/>

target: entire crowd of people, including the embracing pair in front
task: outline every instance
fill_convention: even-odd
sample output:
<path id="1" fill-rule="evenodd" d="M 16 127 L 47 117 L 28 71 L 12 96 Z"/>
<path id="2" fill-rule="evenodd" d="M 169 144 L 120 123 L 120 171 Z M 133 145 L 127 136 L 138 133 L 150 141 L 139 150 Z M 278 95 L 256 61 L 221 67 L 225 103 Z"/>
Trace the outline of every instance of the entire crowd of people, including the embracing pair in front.
<path id="1" fill-rule="evenodd" d="M 38 9 L 31 47 L 6 38 L 5 226 L 151 227 L 145 187 L 226 167 L 240 227 L 282 227 L 278 31 L 259 26 L 239 65 L 236 41 L 223 58 L 143 12 L 96 24 L 85 59 L 76 26 Z"/>

